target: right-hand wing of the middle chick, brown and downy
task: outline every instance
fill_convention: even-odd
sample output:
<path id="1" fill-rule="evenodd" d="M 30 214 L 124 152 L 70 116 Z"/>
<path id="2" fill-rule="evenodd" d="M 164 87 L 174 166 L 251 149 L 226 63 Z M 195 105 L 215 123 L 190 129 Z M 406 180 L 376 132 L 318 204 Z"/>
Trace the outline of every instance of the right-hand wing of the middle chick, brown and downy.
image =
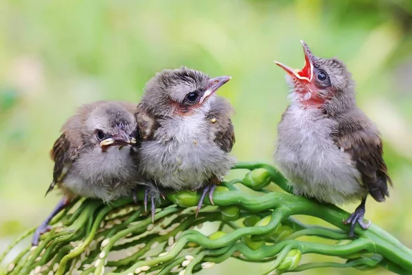
<path id="1" fill-rule="evenodd" d="M 226 153 L 229 153 L 236 142 L 235 131 L 230 116 L 233 107 L 224 98 L 216 98 L 207 114 L 214 142 Z"/>

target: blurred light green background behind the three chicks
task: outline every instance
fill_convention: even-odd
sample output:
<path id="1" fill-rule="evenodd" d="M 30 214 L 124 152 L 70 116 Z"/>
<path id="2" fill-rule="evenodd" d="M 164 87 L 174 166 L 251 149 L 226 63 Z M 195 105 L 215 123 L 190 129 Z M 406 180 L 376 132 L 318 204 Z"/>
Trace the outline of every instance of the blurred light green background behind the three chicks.
<path id="1" fill-rule="evenodd" d="M 163 68 L 232 76 L 218 93 L 237 111 L 233 155 L 271 163 L 288 105 L 284 72 L 273 61 L 303 66 L 300 39 L 318 56 L 341 58 L 354 75 L 395 184 L 386 203 L 369 199 L 366 217 L 412 248 L 411 1 L 14 0 L 1 1 L 0 28 L 0 252 L 58 201 L 44 194 L 49 149 L 65 119 L 94 100 L 139 102 Z M 230 261 L 203 274 L 266 267 Z M 306 274 L 321 272 L 356 273 Z"/>

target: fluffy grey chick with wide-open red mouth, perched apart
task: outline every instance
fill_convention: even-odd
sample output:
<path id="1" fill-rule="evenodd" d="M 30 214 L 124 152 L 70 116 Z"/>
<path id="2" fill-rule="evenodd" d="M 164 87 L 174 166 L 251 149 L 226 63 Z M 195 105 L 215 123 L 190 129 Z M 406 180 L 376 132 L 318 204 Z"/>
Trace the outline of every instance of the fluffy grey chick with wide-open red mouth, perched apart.
<path id="1" fill-rule="evenodd" d="M 304 68 L 286 71 L 292 87 L 290 105 L 277 126 L 274 159 L 296 195 L 324 203 L 361 200 L 343 223 L 354 237 L 356 224 L 363 230 L 368 195 L 376 201 L 389 197 L 392 185 L 382 157 L 380 131 L 356 105 L 352 74 L 337 58 L 314 56 L 304 47 Z"/>

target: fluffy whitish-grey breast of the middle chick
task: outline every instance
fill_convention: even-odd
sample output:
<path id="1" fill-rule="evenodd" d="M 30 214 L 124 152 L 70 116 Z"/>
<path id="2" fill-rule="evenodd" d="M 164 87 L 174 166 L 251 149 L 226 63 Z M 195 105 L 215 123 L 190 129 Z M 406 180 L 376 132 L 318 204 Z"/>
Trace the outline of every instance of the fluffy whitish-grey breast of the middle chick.
<path id="1" fill-rule="evenodd" d="M 157 184 L 196 189 L 212 175 L 223 176 L 233 160 L 214 142 L 205 118 L 162 122 L 155 140 L 141 145 L 141 169 Z"/>

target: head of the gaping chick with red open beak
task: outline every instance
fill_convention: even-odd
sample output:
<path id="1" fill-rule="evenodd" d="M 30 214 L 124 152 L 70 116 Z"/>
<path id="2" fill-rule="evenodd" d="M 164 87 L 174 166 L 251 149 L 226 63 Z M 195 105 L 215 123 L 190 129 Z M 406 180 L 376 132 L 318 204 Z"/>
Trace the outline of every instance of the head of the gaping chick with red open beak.
<path id="1" fill-rule="evenodd" d="M 293 87 L 292 100 L 305 107 L 322 108 L 339 112 L 355 104 L 354 82 L 345 64 L 336 58 L 314 56 L 308 45 L 304 46 L 304 68 L 293 69 L 275 61 L 286 71 L 286 78 Z"/>

